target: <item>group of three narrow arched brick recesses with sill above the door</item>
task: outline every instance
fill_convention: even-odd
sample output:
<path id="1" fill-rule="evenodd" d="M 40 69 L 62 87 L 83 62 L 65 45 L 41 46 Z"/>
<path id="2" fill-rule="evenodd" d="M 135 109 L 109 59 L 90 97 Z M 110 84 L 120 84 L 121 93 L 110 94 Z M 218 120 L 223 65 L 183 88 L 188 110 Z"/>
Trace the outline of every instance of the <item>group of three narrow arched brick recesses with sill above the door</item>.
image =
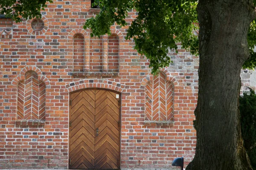
<path id="1" fill-rule="evenodd" d="M 90 37 L 90 32 L 81 29 L 71 31 L 70 36 L 73 36 L 72 38 L 76 39 L 74 39 L 74 41 L 81 41 L 79 46 L 77 46 L 77 42 L 74 42 L 73 44 L 73 76 L 111 77 L 118 75 L 119 57 L 120 54 L 122 54 L 119 53 L 119 42 L 120 40 L 123 42 L 124 37 L 119 30 L 114 28 L 111 28 L 111 33 L 111 36 L 104 35 L 101 37 Z M 82 42 L 81 36 L 75 37 L 76 35 L 84 36 L 84 42 Z M 77 40 L 78 38 L 79 40 Z M 82 45 L 84 45 L 84 57 L 82 57 Z M 79 48 L 79 55 L 75 54 L 75 51 L 77 51 L 76 48 Z M 84 61 L 82 61 L 82 58 Z M 84 68 L 82 68 L 82 65 Z"/>

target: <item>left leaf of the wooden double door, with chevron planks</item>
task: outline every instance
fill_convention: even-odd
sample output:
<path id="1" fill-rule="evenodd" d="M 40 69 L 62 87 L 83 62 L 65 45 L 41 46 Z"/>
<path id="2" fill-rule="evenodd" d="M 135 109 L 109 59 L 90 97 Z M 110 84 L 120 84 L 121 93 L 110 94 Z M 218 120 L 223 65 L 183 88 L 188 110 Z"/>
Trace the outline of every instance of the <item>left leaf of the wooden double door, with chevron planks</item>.
<path id="1" fill-rule="evenodd" d="M 95 91 L 71 94 L 71 169 L 94 168 Z"/>

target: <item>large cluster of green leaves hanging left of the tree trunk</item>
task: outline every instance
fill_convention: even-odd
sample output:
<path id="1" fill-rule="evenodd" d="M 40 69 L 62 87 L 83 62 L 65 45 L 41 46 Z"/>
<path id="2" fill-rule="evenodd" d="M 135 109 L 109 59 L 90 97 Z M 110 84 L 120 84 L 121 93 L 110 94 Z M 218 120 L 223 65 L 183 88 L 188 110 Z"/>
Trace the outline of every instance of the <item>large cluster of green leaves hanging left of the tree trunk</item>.
<path id="1" fill-rule="evenodd" d="M 198 53 L 198 37 L 193 34 L 198 30 L 196 0 L 98 0 L 93 5 L 101 11 L 84 26 L 92 29 L 92 37 L 111 34 L 109 28 L 115 22 L 125 26 L 128 12 L 137 11 L 126 39 L 134 38 L 135 49 L 150 59 L 153 74 L 170 64 L 167 54 L 177 49 L 177 42 L 192 54 Z"/>

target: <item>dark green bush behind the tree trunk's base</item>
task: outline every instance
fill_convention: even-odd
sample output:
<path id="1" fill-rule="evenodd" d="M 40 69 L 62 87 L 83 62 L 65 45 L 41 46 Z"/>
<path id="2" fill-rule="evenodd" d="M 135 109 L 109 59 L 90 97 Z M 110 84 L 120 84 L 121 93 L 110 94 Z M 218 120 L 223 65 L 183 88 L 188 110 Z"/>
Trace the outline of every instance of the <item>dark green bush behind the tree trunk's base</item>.
<path id="1" fill-rule="evenodd" d="M 251 165 L 256 170 L 256 94 L 250 89 L 250 94 L 239 97 L 241 133 L 244 147 L 250 158 Z"/>

